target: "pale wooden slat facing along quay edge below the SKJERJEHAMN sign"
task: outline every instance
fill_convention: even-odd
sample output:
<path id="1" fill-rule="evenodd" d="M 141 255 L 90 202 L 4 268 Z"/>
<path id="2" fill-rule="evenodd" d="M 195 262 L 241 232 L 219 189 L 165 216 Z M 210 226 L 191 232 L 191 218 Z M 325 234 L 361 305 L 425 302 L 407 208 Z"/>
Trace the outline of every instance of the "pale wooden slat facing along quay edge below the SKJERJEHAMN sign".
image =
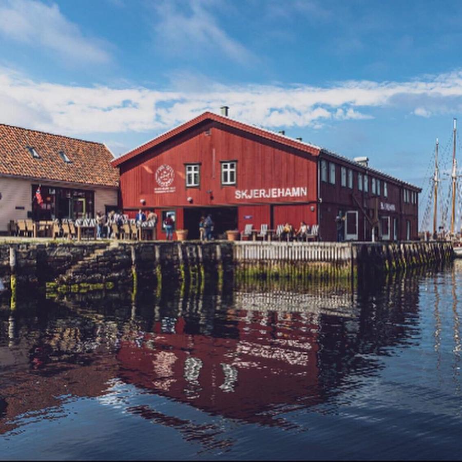
<path id="1" fill-rule="evenodd" d="M 254 242 L 237 241 L 235 261 L 350 261 L 352 245 L 348 242 Z"/>

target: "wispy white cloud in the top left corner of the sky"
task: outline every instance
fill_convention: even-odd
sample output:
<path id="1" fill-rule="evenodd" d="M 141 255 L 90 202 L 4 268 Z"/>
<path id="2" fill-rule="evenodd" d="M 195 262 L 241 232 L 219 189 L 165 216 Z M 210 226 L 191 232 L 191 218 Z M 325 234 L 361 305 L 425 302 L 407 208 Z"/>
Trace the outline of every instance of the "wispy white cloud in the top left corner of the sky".
<path id="1" fill-rule="evenodd" d="M 63 16 L 56 4 L 7 0 L 0 5 L 0 34 L 16 42 L 40 46 L 74 61 L 106 63 L 108 53 Z"/>

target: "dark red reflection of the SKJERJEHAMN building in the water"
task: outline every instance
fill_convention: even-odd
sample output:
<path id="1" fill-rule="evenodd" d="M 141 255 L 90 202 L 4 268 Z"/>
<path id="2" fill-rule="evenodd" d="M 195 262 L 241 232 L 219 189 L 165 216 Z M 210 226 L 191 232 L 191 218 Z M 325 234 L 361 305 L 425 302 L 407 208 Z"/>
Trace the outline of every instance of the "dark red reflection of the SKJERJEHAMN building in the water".
<path id="1" fill-rule="evenodd" d="M 159 321 L 142 339 L 122 341 L 119 376 L 209 413 L 264 424 L 283 406 L 318 402 L 316 325 L 300 314 L 271 314 L 270 328 L 268 314 L 247 313 L 239 338 L 185 334 L 182 318 L 177 333 L 162 333 Z"/>

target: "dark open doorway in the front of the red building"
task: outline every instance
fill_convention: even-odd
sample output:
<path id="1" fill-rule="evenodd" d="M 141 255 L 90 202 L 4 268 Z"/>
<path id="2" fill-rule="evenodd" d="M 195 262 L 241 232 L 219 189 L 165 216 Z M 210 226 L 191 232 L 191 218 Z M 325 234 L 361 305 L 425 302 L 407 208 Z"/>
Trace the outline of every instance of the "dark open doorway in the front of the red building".
<path id="1" fill-rule="evenodd" d="M 199 239 L 201 217 L 211 215 L 214 222 L 213 237 L 225 239 L 225 231 L 237 229 L 237 207 L 191 207 L 184 209 L 184 228 L 188 230 L 188 239 Z"/>

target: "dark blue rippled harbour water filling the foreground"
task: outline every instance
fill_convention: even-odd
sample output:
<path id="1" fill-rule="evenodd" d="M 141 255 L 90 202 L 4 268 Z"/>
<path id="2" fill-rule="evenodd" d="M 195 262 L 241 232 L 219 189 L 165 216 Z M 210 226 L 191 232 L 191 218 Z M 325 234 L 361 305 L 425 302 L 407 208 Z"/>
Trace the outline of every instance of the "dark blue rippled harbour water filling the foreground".
<path id="1" fill-rule="evenodd" d="M 461 283 L 6 300 L 1 457 L 460 458 Z"/>

